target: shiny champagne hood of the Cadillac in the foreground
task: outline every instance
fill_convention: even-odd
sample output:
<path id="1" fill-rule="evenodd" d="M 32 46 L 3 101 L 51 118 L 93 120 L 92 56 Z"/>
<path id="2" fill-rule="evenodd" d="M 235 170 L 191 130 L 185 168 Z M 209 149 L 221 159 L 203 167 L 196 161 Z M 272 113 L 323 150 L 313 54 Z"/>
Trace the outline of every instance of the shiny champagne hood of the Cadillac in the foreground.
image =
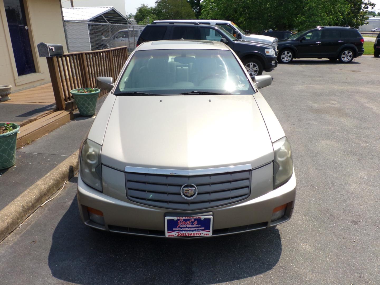
<path id="1" fill-rule="evenodd" d="M 118 96 L 101 150 L 102 164 L 121 171 L 255 168 L 272 160 L 271 139 L 252 95 Z"/>

